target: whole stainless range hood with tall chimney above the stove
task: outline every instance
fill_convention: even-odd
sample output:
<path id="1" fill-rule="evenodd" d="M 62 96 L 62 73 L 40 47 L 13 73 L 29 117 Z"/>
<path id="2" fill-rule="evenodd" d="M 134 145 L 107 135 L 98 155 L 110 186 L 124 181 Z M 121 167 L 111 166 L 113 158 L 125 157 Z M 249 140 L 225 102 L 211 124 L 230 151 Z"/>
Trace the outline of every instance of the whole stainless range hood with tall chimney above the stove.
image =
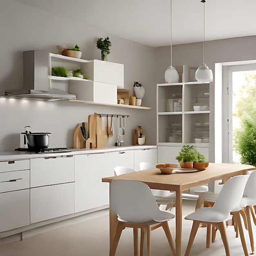
<path id="1" fill-rule="evenodd" d="M 22 99 L 57 101 L 76 99 L 76 95 L 52 88 L 48 79 L 49 52 L 33 50 L 24 52 L 24 81 L 21 90 L 5 90 L 5 96 Z"/>

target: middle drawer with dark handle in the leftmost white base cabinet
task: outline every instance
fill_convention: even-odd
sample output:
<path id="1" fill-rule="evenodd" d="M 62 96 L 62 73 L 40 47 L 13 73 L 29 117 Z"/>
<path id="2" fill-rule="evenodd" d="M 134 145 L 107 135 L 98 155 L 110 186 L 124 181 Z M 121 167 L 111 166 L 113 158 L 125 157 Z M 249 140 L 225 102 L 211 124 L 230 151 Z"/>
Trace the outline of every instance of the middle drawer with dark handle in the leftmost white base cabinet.
<path id="1" fill-rule="evenodd" d="M 0 193 L 29 189 L 29 170 L 0 173 Z"/>

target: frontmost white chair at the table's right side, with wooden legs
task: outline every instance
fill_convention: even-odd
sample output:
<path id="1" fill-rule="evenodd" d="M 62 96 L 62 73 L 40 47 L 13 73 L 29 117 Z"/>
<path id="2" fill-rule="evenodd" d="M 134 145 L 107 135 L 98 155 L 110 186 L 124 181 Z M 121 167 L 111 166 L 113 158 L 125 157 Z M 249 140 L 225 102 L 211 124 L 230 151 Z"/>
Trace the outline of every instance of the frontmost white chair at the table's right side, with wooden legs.
<path id="1" fill-rule="evenodd" d="M 189 255 L 193 241 L 195 239 L 196 232 L 200 224 L 207 225 L 207 248 L 209 248 L 210 246 L 211 226 L 214 225 L 217 229 L 220 230 L 226 255 L 230 256 L 225 222 L 232 218 L 231 214 L 233 214 L 236 218 L 236 223 L 238 223 L 243 250 L 245 255 L 248 255 L 243 229 L 241 229 L 242 225 L 239 214 L 239 211 L 241 209 L 240 201 L 243 197 L 247 180 L 248 175 L 238 175 L 231 177 L 223 185 L 216 202 L 213 204 L 213 207 L 202 207 L 185 217 L 186 220 L 193 220 L 193 225 L 185 256 Z"/>

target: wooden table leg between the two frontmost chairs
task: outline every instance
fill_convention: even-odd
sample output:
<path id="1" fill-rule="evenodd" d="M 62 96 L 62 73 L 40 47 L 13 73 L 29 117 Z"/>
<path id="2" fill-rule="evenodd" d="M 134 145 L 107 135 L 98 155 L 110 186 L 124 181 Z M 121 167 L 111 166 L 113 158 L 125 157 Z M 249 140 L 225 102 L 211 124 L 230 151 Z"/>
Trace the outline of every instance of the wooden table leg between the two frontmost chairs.
<path id="1" fill-rule="evenodd" d="M 181 255 L 181 231 L 182 231 L 182 195 L 180 187 L 176 191 L 176 256 Z"/>

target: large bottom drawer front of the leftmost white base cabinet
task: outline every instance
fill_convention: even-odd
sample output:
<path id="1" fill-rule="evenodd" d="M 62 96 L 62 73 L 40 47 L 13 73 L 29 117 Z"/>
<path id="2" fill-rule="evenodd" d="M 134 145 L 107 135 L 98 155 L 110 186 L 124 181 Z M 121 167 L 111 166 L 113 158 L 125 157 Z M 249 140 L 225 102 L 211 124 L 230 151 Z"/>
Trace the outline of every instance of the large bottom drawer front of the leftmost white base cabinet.
<path id="1" fill-rule="evenodd" d="M 30 224 L 29 189 L 0 193 L 0 232 Z"/>

